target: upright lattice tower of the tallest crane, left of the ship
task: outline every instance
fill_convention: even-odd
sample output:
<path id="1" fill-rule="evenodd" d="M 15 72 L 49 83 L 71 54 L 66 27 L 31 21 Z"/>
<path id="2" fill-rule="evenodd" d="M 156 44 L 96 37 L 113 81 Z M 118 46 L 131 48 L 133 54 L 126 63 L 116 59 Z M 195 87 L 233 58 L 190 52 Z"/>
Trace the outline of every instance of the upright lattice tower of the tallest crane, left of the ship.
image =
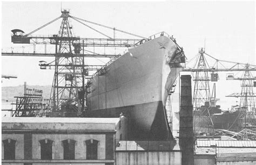
<path id="1" fill-rule="evenodd" d="M 76 44 L 73 37 L 72 26 L 69 22 L 69 11 L 62 10 L 62 24 L 56 36 L 55 73 L 52 83 L 50 106 L 52 115 L 60 109 L 69 109 L 69 116 L 84 111 L 84 57 L 72 56 L 72 47 Z M 57 47 L 59 45 L 59 47 Z M 80 48 L 80 47 L 79 47 Z M 79 50 L 78 50 L 79 51 Z M 58 56 L 64 54 L 64 56 Z"/>

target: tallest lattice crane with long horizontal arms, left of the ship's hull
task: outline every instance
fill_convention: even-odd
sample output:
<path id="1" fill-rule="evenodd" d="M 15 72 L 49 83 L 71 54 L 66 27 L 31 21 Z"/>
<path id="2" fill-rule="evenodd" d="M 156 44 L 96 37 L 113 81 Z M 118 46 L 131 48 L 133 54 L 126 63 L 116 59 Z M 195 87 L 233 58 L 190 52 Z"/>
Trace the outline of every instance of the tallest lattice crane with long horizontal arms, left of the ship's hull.
<path id="1" fill-rule="evenodd" d="M 74 17 L 70 15 L 68 9 L 61 10 L 62 15 L 49 23 L 33 30 L 27 34 L 19 29 L 12 30 L 11 42 L 14 44 L 33 44 L 33 52 L 26 53 L 16 52 L 11 48 L 11 52 L 2 51 L 2 56 L 32 56 L 32 57 L 55 57 L 51 63 L 46 61 L 39 61 L 41 69 L 54 67 L 55 73 L 53 77 L 51 97 L 47 111 L 50 116 L 83 116 L 85 112 L 85 78 L 89 75 L 88 71 L 98 70 L 102 66 L 85 65 L 85 57 L 103 57 L 103 58 L 117 58 L 120 53 L 106 54 L 95 52 L 97 47 L 116 47 L 127 49 L 128 47 L 136 47 L 150 38 L 134 35 L 132 33 L 122 31 L 116 28 L 111 28 L 102 24 L 94 23 L 89 20 Z M 49 36 L 32 36 L 36 31 L 62 19 L 60 29 L 57 35 Z M 73 35 L 72 25 L 70 19 L 83 24 L 87 28 L 103 35 L 106 38 L 80 38 Z M 127 35 L 137 37 L 138 39 L 120 39 L 115 36 L 110 37 L 103 32 L 98 31 L 88 24 L 101 26 L 103 28 L 113 30 L 115 32 L 122 32 Z M 44 44 L 45 52 L 39 53 L 36 51 L 36 44 Z M 46 45 L 55 45 L 55 52 L 47 52 Z M 93 51 L 87 48 L 93 47 Z"/>

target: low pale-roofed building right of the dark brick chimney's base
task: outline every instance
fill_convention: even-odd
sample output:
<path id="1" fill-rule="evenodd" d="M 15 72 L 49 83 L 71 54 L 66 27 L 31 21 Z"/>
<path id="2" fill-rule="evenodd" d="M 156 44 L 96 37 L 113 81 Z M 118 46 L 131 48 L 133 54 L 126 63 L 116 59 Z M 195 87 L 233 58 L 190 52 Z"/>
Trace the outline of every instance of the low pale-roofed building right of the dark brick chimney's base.
<path id="1" fill-rule="evenodd" d="M 194 164 L 256 164 L 256 141 L 197 140 Z"/>

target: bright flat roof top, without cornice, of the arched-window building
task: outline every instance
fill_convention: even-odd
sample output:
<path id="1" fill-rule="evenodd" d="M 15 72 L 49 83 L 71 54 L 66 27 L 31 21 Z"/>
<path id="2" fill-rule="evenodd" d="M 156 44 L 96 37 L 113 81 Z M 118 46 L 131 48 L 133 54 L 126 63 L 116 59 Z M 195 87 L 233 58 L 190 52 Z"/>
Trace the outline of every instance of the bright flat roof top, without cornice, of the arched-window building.
<path id="1" fill-rule="evenodd" d="M 2 123 L 118 123 L 119 118 L 33 118 L 33 117 L 3 117 Z"/>

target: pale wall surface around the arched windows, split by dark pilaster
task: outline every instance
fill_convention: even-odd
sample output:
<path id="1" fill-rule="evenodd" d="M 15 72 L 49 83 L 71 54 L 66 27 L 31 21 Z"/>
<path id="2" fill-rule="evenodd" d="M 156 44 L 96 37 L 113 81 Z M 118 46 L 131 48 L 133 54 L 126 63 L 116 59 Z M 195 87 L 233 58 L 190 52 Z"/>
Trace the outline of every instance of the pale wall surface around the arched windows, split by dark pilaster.
<path id="1" fill-rule="evenodd" d="M 49 139 L 53 141 L 52 159 L 63 159 L 62 140 L 72 139 L 77 141 L 75 148 L 75 159 L 86 159 L 85 140 L 98 140 L 98 159 L 105 159 L 105 136 L 95 134 L 32 134 L 32 159 L 41 159 L 41 146 L 39 140 Z M 16 140 L 16 159 L 24 159 L 24 135 L 23 134 L 2 134 L 2 140 Z M 4 146 L 2 142 L 2 159 L 4 159 Z"/>

